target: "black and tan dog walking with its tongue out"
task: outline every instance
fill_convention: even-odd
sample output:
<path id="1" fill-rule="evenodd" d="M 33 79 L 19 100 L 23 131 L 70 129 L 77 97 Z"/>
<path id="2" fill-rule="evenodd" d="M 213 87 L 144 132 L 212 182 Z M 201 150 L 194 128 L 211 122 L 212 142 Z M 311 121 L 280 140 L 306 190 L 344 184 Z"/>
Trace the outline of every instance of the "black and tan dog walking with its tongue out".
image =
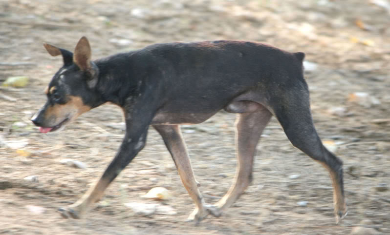
<path id="1" fill-rule="evenodd" d="M 64 66 L 45 90 L 47 102 L 32 117 L 42 133 L 60 129 L 88 110 L 111 102 L 122 108 L 126 135 L 103 176 L 76 203 L 59 212 L 79 218 L 145 146 L 149 126 L 162 136 L 184 187 L 195 202 L 189 216 L 199 222 L 220 216 L 252 180 L 261 132 L 272 116 L 291 143 L 322 163 L 333 181 L 336 221 L 347 214 L 343 163 L 322 144 L 310 114 L 302 52 L 289 53 L 246 41 L 154 44 L 91 60 L 83 37 L 74 53 L 44 44 Z M 219 110 L 236 113 L 238 168 L 235 182 L 215 205 L 205 204 L 180 133 L 180 124 L 200 123 Z"/>

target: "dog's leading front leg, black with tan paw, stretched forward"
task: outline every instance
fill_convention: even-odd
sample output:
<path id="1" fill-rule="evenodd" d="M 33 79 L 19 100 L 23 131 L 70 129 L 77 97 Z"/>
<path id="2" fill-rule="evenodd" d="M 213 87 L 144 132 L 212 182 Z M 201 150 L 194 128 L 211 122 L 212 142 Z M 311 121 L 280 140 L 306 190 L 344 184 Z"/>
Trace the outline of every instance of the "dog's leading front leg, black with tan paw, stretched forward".
<path id="1" fill-rule="evenodd" d="M 147 129 L 141 135 L 126 134 L 118 153 L 108 165 L 103 176 L 76 203 L 59 208 L 59 213 L 64 218 L 80 218 L 87 211 L 90 204 L 100 200 L 108 185 L 145 146 L 146 136 Z"/>

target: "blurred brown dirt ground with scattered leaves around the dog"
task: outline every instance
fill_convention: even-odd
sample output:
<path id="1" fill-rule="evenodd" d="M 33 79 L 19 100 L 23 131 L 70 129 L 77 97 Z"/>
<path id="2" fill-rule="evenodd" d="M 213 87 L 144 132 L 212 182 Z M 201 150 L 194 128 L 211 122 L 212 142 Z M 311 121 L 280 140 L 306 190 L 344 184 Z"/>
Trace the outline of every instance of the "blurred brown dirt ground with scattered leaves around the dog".
<path id="1" fill-rule="evenodd" d="M 362 234 L 390 234 L 389 4 L 0 0 L 0 82 L 29 78 L 21 88 L 0 86 L 0 234 L 323 235 L 349 234 L 357 226 L 365 229 Z M 219 218 L 209 216 L 199 226 L 186 222 L 194 204 L 161 137 L 151 129 L 147 147 L 103 200 L 83 219 L 63 219 L 57 208 L 76 201 L 103 173 L 124 135 L 122 113 L 110 105 L 79 117 L 62 132 L 44 135 L 29 121 L 62 64 L 42 43 L 73 50 L 82 36 L 95 59 L 156 42 L 214 39 L 265 41 L 305 52 L 316 128 L 344 161 L 347 217 L 335 225 L 327 172 L 295 149 L 273 118 L 258 146 L 252 185 Z M 205 123 L 182 127 L 207 203 L 226 193 L 235 174 L 234 119 L 220 112 Z M 62 164 L 65 158 L 87 167 Z M 158 186 L 173 197 L 163 202 L 141 197 Z M 129 202 L 164 204 L 176 214 L 138 215 L 124 205 Z"/>

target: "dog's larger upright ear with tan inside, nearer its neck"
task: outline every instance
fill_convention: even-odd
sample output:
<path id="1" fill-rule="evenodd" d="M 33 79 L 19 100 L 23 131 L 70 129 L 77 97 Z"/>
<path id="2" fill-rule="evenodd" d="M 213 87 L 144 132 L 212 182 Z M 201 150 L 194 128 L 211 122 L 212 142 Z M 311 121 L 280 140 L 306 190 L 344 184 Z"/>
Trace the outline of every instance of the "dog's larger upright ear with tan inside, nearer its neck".
<path id="1" fill-rule="evenodd" d="M 99 69 L 91 61 L 91 47 L 88 39 L 82 37 L 76 45 L 73 54 L 73 62 L 87 75 L 87 83 L 90 88 L 96 86 L 99 76 Z"/>

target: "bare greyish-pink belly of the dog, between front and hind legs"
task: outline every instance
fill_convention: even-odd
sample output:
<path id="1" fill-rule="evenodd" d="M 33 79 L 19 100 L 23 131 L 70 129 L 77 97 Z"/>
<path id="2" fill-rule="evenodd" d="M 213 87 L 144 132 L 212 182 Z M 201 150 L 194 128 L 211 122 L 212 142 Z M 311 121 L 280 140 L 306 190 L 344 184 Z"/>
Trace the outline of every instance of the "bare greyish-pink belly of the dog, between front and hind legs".
<path id="1" fill-rule="evenodd" d="M 153 117 L 151 125 L 198 124 L 216 113 L 157 113 Z"/>

